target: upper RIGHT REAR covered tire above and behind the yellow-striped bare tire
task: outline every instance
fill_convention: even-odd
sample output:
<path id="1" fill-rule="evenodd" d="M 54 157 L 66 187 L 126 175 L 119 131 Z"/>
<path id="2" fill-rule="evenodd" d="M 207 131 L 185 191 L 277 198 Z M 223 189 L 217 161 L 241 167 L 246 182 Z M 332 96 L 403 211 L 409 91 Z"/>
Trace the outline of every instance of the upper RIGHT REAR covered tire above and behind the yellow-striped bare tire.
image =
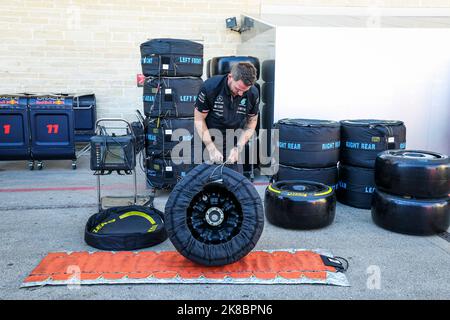
<path id="1" fill-rule="evenodd" d="M 340 124 L 329 120 L 282 119 L 279 162 L 299 168 L 326 168 L 339 161 Z"/>

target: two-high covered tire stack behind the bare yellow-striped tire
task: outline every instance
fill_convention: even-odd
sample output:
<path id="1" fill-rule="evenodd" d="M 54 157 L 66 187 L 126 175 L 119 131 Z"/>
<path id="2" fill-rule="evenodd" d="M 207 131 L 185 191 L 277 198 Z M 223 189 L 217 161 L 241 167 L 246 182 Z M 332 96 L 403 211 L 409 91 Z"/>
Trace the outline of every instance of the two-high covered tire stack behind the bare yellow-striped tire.
<path id="1" fill-rule="evenodd" d="M 273 181 L 307 180 L 335 188 L 338 181 L 340 124 L 329 120 L 282 119 L 279 168 Z"/>

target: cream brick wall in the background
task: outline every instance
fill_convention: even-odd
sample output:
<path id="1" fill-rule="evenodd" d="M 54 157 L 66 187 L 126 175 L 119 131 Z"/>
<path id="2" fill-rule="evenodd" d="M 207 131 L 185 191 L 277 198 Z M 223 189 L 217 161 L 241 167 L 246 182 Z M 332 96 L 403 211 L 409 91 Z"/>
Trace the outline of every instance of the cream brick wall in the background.
<path id="1" fill-rule="evenodd" d="M 203 41 L 205 59 L 240 43 L 225 18 L 259 14 L 261 5 L 450 7 L 450 1 L 9 0 L 0 1 L 0 92 L 84 91 L 99 116 L 142 109 L 139 45 L 149 38 Z"/>

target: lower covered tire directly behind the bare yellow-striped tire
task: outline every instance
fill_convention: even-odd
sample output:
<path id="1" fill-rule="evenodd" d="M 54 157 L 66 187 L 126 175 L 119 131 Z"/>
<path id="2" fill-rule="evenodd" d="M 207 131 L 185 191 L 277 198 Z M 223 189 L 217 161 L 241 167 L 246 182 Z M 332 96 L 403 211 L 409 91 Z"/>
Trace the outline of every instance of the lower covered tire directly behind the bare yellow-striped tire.
<path id="1" fill-rule="evenodd" d="M 338 183 L 337 165 L 328 168 L 296 168 L 280 164 L 273 181 L 307 180 L 320 182 L 336 189 Z"/>

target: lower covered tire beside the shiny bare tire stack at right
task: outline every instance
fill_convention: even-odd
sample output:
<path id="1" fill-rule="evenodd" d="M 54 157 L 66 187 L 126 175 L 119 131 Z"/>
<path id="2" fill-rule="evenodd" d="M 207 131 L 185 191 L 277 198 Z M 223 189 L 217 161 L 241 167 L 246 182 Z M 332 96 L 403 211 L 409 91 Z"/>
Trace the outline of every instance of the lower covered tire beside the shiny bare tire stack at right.
<path id="1" fill-rule="evenodd" d="M 337 200 L 360 209 L 370 209 L 375 190 L 375 170 L 339 163 Z"/>

